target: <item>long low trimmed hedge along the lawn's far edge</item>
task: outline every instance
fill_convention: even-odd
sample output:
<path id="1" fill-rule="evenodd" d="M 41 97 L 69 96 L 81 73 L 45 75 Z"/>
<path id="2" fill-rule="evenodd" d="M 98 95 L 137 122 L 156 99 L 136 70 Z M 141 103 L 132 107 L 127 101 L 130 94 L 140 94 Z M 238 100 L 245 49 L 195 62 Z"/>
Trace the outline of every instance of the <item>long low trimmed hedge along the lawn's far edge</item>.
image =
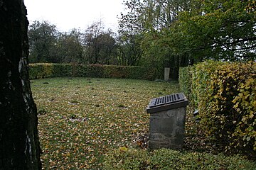
<path id="1" fill-rule="evenodd" d="M 154 69 L 137 66 L 114 66 L 100 64 L 29 64 L 30 79 L 48 77 L 102 77 L 124 79 L 154 79 Z"/>

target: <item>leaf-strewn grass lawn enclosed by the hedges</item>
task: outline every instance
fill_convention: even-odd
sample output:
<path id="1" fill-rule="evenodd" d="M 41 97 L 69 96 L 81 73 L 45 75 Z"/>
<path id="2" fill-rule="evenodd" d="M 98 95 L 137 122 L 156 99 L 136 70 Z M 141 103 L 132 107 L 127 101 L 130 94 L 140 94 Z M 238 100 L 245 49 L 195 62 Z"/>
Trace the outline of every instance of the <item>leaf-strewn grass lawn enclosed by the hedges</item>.
<path id="1" fill-rule="evenodd" d="M 97 169 L 111 149 L 138 147 L 150 99 L 180 91 L 177 82 L 94 78 L 32 80 L 31 89 L 44 169 Z"/>

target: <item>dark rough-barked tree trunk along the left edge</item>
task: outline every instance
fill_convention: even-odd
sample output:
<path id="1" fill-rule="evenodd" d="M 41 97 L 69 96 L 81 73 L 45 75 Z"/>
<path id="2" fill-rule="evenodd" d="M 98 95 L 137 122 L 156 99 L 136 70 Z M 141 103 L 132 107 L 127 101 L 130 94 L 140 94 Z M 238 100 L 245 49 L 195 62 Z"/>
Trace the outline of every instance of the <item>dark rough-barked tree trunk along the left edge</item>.
<path id="1" fill-rule="evenodd" d="M 41 169 L 23 0 L 0 0 L 0 169 Z"/>

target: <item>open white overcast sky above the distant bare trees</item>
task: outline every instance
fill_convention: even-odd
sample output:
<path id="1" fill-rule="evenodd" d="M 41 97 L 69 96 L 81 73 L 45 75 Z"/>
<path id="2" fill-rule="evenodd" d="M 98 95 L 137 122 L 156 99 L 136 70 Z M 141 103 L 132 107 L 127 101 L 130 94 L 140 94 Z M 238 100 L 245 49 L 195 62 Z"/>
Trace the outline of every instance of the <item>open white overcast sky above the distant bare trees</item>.
<path id="1" fill-rule="evenodd" d="M 84 30 L 95 21 L 117 30 L 117 15 L 124 11 L 123 0 L 24 0 L 28 21 L 49 21 L 60 31 Z"/>

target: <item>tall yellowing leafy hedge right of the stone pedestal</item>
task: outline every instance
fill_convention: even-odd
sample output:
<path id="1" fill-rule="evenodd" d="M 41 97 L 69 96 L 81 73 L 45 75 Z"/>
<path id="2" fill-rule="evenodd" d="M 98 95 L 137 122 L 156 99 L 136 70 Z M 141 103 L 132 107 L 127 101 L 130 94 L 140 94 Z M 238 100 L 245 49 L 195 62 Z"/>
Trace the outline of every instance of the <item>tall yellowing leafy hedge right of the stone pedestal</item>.
<path id="1" fill-rule="evenodd" d="M 198 107 L 206 135 L 223 142 L 227 149 L 255 156 L 255 62 L 203 62 L 180 69 L 179 81 Z"/>

